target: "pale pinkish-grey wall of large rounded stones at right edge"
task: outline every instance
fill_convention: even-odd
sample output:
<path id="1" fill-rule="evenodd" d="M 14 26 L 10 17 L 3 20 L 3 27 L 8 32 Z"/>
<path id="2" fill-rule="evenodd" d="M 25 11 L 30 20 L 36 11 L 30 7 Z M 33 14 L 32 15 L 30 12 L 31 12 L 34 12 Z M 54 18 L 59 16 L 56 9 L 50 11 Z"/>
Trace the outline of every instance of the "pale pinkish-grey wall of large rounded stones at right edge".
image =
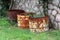
<path id="1" fill-rule="evenodd" d="M 48 15 L 50 17 L 52 27 L 60 29 L 60 0 L 48 0 Z"/>

